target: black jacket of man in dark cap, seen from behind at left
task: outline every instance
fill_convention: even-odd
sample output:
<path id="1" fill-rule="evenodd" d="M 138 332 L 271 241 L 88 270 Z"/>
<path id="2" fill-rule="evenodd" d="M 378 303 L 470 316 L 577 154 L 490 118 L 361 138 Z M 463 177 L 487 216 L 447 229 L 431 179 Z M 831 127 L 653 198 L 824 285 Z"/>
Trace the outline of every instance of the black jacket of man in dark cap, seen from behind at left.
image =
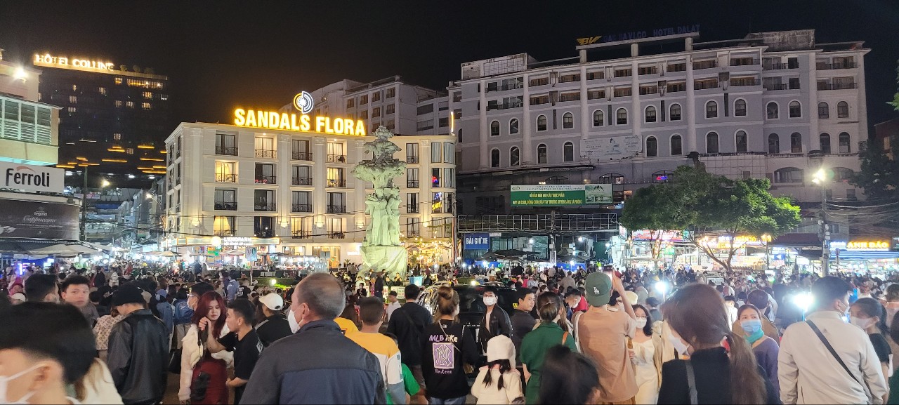
<path id="1" fill-rule="evenodd" d="M 168 339 L 165 323 L 147 309 L 130 313 L 112 327 L 106 363 L 122 402 L 163 400 L 168 382 Z"/>

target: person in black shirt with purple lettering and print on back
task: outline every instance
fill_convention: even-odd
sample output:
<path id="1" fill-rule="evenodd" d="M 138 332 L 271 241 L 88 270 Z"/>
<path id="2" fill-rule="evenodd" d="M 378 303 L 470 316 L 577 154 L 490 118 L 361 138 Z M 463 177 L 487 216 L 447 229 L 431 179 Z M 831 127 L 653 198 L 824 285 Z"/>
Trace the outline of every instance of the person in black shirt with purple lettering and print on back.
<path id="1" fill-rule="evenodd" d="M 432 404 L 462 404 L 468 394 L 465 364 L 481 356 L 475 337 L 458 321 L 459 297 L 449 286 L 437 289 L 434 322 L 422 333 L 422 374 Z"/>

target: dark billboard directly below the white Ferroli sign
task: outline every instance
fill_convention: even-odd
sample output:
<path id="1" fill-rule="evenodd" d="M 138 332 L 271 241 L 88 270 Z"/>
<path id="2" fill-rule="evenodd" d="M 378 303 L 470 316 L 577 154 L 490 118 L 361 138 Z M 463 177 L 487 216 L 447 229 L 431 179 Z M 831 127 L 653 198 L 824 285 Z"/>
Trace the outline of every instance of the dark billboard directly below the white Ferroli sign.
<path id="1" fill-rule="evenodd" d="M 0 199 L 0 237 L 78 239 L 75 204 Z"/>

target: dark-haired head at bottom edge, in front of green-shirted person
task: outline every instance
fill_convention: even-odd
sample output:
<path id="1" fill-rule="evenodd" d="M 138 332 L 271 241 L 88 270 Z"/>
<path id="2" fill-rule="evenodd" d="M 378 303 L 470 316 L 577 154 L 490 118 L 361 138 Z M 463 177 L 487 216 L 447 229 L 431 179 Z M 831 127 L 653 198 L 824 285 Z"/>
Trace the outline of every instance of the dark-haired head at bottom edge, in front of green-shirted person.
<path id="1" fill-rule="evenodd" d="M 540 374 L 537 403 L 585 404 L 600 389 L 600 374 L 589 358 L 574 353 L 565 345 L 547 350 Z"/>

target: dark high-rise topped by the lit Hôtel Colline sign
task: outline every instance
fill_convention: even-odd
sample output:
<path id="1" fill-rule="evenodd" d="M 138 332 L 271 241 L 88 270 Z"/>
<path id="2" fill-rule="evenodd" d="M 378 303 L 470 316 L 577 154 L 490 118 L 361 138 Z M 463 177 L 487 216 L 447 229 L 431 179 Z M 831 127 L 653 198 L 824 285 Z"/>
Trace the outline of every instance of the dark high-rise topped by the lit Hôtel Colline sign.
<path id="1" fill-rule="evenodd" d="M 90 57 L 36 53 L 31 63 L 42 71 L 40 101 L 61 107 L 58 167 L 89 165 L 116 187 L 165 173 L 162 146 L 172 124 L 167 76 Z"/>

